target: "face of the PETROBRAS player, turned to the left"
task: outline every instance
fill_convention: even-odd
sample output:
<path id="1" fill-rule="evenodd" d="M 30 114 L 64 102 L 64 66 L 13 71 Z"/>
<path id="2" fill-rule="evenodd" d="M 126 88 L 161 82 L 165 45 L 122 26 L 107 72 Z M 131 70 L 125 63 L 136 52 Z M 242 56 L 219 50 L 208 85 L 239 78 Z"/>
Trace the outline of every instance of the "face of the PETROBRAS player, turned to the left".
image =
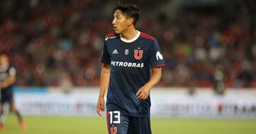
<path id="1" fill-rule="evenodd" d="M 124 15 L 124 13 L 122 13 L 122 11 L 117 9 L 116 11 L 114 11 L 114 19 L 112 21 L 112 24 L 114 27 L 114 33 L 122 34 L 131 25 L 131 18 L 128 18 Z"/>

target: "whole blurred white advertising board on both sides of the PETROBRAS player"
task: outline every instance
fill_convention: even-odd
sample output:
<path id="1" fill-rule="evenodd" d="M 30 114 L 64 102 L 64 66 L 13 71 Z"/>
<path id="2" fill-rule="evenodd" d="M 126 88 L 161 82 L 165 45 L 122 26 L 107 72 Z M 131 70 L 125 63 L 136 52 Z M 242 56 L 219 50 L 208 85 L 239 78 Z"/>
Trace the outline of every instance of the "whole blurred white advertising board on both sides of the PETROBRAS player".
<path id="1" fill-rule="evenodd" d="M 24 90 L 23 90 L 24 91 Z M 21 113 L 29 116 L 97 116 L 98 88 L 16 92 Z M 256 90 L 229 89 L 216 95 L 211 89 L 193 94 L 183 88 L 155 88 L 151 91 L 152 117 L 181 118 L 255 118 Z"/>

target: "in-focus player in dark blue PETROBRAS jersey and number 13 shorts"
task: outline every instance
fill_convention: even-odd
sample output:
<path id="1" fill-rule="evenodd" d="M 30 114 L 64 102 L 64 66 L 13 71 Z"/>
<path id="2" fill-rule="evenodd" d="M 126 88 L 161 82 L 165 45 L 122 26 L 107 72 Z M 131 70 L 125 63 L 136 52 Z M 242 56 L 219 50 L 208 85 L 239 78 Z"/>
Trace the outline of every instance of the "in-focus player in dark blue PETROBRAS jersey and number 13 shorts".
<path id="1" fill-rule="evenodd" d="M 114 34 L 106 35 L 97 113 L 105 110 L 110 134 L 151 134 L 149 92 L 161 79 L 163 56 L 154 37 L 136 30 L 139 8 L 118 3 Z M 150 73 L 152 71 L 152 73 Z"/>

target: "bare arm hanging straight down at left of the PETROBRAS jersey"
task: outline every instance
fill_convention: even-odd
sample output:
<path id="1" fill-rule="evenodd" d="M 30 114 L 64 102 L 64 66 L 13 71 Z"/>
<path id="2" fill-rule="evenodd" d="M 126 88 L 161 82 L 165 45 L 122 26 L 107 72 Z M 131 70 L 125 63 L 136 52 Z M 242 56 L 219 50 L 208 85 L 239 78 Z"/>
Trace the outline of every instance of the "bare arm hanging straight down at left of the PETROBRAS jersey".
<path id="1" fill-rule="evenodd" d="M 97 101 L 97 114 L 102 116 L 101 111 L 105 110 L 104 96 L 110 83 L 110 65 L 103 64 L 100 72 L 100 95 Z"/>

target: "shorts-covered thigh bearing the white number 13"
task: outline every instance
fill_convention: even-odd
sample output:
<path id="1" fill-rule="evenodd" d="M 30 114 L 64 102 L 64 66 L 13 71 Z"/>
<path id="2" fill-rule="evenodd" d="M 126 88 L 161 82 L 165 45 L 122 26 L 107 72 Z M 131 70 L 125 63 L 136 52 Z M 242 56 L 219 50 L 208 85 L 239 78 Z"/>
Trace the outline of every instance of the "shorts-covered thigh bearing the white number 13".
<path id="1" fill-rule="evenodd" d="M 107 111 L 107 130 L 109 134 L 127 134 L 129 117 L 120 111 Z"/>

